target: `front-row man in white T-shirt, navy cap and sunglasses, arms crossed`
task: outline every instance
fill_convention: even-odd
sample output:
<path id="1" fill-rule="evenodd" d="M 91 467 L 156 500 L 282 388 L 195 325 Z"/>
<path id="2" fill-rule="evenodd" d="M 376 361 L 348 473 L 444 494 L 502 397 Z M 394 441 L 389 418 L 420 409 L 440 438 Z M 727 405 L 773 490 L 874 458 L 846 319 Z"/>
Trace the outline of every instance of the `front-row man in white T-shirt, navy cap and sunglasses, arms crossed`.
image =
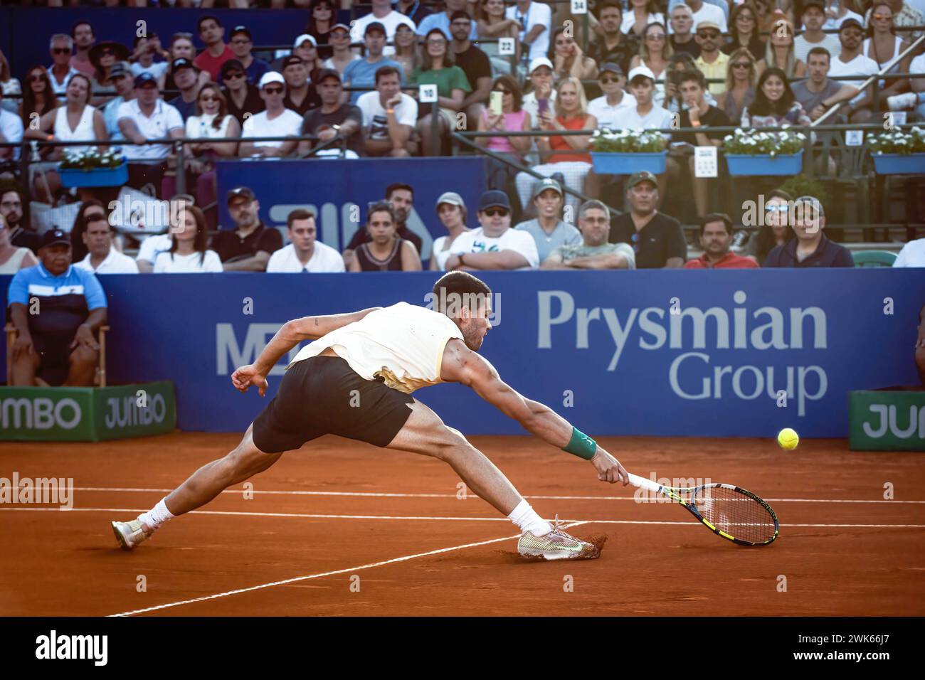
<path id="1" fill-rule="evenodd" d="M 484 192 L 478 202 L 478 229 L 465 231 L 450 245 L 450 271 L 536 269 L 536 242 L 525 231 L 511 229 L 511 202 L 505 192 Z"/>

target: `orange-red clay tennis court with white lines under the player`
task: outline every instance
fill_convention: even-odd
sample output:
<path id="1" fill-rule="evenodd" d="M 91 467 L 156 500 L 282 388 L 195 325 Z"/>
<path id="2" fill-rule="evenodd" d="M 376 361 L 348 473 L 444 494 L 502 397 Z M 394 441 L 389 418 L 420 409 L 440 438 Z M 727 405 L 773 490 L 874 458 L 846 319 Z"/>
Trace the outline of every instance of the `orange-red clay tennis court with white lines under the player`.
<path id="1" fill-rule="evenodd" d="M 70 512 L 0 506 L 4 543 L 15 547 L 0 553 L 0 612 L 925 613 L 920 455 L 852 452 L 840 439 L 791 452 L 759 439 L 600 439 L 638 475 L 709 477 L 755 491 L 781 521 L 780 538 L 765 548 L 722 540 L 674 503 L 635 502 L 635 488 L 598 482 L 589 464 L 536 439 L 472 438 L 538 513 L 559 513 L 578 537 L 607 537 L 596 561 L 524 563 L 516 527 L 472 495 L 458 499 L 448 465 L 327 437 L 253 478 L 253 499 L 228 490 L 139 549 L 118 550 L 110 520 L 150 509 L 238 440 L 178 432 L 0 445 L 0 476 L 17 470 L 75 485 Z M 883 500 L 886 482 L 892 501 Z M 139 575 L 145 592 L 136 589 Z"/>

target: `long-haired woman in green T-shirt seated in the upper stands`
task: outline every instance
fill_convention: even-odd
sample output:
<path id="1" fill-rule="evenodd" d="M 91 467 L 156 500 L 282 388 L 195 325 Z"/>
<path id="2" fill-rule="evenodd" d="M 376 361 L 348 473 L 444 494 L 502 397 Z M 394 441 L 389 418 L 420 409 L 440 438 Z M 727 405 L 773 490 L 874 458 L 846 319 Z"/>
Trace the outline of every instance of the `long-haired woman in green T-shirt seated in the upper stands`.
<path id="1" fill-rule="evenodd" d="M 434 16 L 436 15 L 431 15 L 431 17 Z M 414 71 L 412 80 L 417 85 L 437 85 L 439 112 L 437 127 L 438 136 L 442 140 L 450 130 L 455 129 L 456 114 L 466 94 L 472 92 L 472 87 L 466 80 L 462 68 L 456 66 L 450 54 L 449 41 L 442 30 L 428 31 L 424 44 L 424 63 L 421 68 Z M 417 131 L 421 135 L 421 151 L 424 155 L 439 155 L 438 141 L 433 139 L 431 126 L 431 117 L 435 115 L 434 108 L 435 106 L 431 104 L 418 106 L 418 115 L 423 115 L 423 117 L 418 121 Z"/>

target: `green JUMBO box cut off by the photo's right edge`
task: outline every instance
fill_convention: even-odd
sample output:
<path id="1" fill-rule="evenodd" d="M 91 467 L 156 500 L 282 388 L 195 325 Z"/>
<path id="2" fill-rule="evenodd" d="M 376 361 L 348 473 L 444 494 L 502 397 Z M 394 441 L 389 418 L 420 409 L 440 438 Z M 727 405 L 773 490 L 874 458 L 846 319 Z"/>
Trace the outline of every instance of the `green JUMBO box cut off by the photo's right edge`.
<path id="1" fill-rule="evenodd" d="M 925 390 L 848 393 L 851 451 L 925 451 Z"/>

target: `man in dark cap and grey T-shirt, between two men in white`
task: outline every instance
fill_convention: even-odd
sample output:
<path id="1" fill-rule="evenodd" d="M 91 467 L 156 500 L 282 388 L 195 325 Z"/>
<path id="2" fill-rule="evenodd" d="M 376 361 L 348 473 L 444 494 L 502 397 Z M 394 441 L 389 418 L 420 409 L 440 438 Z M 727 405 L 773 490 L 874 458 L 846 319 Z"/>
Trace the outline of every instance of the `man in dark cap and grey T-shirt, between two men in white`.
<path id="1" fill-rule="evenodd" d="M 335 137 L 345 140 L 347 157 L 356 158 L 363 154 L 363 112 L 359 106 L 341 104 L 344 87 L 340 75 L 334 69 L 322 71 L 317 80 L 321 105 L 313 108 L 302 118 L 302 134 L 314 134 L 318 142 L 330 142 Z M 318 142 L 299 142 L 299 155 L 307 154 Z M 322 155 L 339 154 L 339 146 L 331 145 Z"/>

